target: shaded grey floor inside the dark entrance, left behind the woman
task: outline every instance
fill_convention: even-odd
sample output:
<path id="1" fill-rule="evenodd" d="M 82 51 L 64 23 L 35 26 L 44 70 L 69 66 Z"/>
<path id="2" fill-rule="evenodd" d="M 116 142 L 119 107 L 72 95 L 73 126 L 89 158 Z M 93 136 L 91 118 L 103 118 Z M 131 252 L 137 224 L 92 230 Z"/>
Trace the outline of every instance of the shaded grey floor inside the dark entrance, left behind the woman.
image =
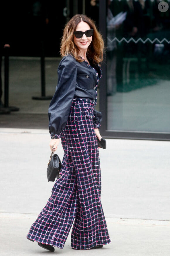
<path id="1" fill-rule="evenodd" d="M 55 92 L 59 61 L 60 58 L 45 60 L 46 96 L 52 96 Z M 2 74 L 3 67 L 2 65 Z M 33 100 L 34 96 L 41 96 L 40 58 L 10 57 L 9 107 L 18 107 L 19 112 L 1 114 L 0 127 L 48 129 L 47 112 L 50 99 Z"/>

